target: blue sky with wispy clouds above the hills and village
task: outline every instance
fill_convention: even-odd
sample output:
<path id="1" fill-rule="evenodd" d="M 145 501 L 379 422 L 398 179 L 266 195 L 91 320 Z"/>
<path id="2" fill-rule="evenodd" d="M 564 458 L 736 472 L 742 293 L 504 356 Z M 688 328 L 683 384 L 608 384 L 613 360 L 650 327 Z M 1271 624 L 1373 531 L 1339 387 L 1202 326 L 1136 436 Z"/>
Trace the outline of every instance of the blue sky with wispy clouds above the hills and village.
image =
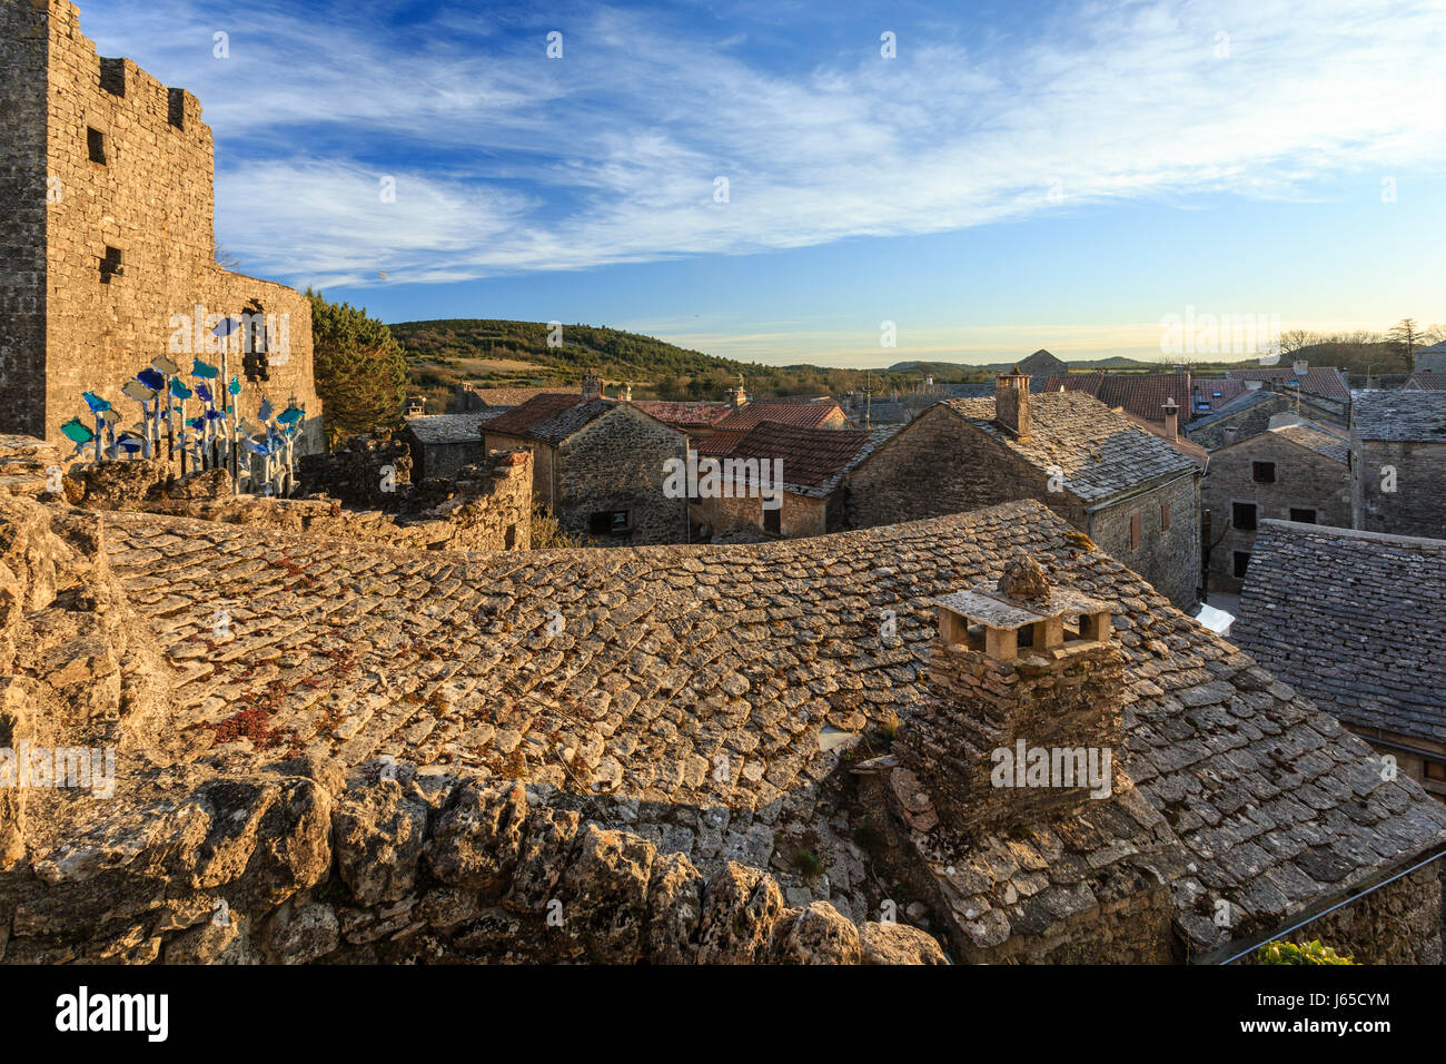
<path id="1" fill-rule="evenodd" d="M 240 269 L 392 323 L 884 366 L 1446 321 L 1443 0 L 80 7 L 200 97 Z"/>

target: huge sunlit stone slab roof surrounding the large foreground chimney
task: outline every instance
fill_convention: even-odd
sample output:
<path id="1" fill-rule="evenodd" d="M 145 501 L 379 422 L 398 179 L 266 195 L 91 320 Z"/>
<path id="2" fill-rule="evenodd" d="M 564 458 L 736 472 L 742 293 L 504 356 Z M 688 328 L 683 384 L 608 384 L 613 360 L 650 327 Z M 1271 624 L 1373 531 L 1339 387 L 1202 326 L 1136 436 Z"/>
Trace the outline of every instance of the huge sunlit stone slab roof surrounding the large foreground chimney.
<path id="1" fill-rule="evenodd" d="M 1362 740 L 1034 501 L 761 546 L 496 554 L 149 514 L 104 524 L 110 565 L 176 670 L 174 725 L 195 756 L 246 759 L 250 740 L 213 746 L 215 725 L 265 705 L 308 754 L 490 769 L 607 799 L 607 816 L 665 851 L 713 831 L 724 853 L 766 863 L 771 818 L 820 801 L 837 735 L 934 705 L 931 601 L 1025 552 L 1116 608 L 1129 785 L 1087 824 L 959 854 L 957 892 L 988 902 L 988 919 L 1027 929 L 1040 913 L 1021 895 L 1041 886 L 1058 912 L 1106 903 L 1084 870 L 1109 864 L 1167 882 L 1200 951 L 1446 844 L 1446 806 L 1384 780 Z M 208 647 L 217 608 L 231 638 Z M 701 812 L 662 822 L 680 808 Z M 1212 919 L 1219 900 L 1229 931 Z"/>

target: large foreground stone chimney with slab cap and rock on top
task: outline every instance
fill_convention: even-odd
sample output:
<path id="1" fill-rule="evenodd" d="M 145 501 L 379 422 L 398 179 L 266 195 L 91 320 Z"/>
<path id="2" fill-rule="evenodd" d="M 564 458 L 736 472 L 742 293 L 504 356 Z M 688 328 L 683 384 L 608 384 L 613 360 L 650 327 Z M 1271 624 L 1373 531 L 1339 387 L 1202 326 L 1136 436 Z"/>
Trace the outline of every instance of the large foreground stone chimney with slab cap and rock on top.
<path id="1" fill-rule="evenodd" d="M 1125 695 L 1111 605 L 1051 586 L 1025 554 L 936 604 L 933 699 L 895 750 L 940 828 L 1027 828 L 1108 796 Z"/>

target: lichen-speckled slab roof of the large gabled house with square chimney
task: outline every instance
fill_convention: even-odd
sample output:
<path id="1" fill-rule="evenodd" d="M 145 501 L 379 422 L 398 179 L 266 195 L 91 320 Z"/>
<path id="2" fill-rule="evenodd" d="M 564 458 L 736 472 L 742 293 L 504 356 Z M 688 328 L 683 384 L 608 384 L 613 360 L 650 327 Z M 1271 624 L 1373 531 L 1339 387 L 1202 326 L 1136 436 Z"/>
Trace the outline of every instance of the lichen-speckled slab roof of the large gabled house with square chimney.
<path id="1" fill-rule="evenodd" d="M 1058 468 L 1066 489 L 1090 504 L 1199 470 L 1194 459 L 1084 392 L 1032 395 L 1030 439 L 1022 443 L 993 423 L 993 400 L 947 400 L 943 405 L 1041 472 Z"/>

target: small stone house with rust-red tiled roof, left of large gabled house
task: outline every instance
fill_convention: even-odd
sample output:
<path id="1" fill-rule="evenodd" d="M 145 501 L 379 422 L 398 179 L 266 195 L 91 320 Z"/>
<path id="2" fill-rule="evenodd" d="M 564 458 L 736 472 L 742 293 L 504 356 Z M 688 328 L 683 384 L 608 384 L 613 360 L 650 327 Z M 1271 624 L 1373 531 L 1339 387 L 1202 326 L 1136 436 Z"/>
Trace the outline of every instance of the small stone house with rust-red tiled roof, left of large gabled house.
<path id="1" fill-rule="evenodd" d="M 748 463 L 777 462 L 782 486 L 768 492 L 768 499 L 748 488 L 722 497 L 694 497 L 690 505 L 693 521 L 706 527 L 710 536 L 749 530 L 763 537 L 797 539 L 837 531 L 846 524 L 843 492 L 839 491 L 843 478 L 894 431 L 803 428 L 762 421 L 737 440 L 729 440 L 726 449 L 707 450 L 711 440 L 704 442 L 697 452 L 700 463 L 714 459 L 724 463 L 722 469 L 726 472 L 749 469 Z M 749 473 L 748 482 L 752 484 L 753 476 Z"/>

